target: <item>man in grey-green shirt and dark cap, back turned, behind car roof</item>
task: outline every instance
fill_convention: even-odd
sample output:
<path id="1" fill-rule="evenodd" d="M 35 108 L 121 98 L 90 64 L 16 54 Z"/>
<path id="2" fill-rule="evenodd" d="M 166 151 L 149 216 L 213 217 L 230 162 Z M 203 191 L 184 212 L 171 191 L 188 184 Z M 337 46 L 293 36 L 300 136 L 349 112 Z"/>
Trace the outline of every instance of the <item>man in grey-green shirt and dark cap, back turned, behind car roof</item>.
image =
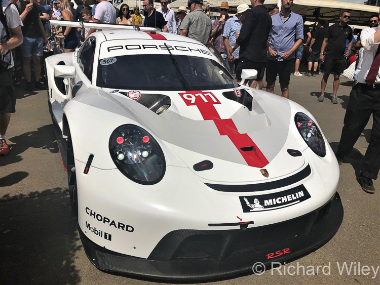
<path id="1" fill-rule="evenodd" d="M 203 0 L 188 0 L 188 13 L 179 26 L 180 35 L 188 36 L 206 45 L 211 33 L 211 19 L 203 13 Z"/>

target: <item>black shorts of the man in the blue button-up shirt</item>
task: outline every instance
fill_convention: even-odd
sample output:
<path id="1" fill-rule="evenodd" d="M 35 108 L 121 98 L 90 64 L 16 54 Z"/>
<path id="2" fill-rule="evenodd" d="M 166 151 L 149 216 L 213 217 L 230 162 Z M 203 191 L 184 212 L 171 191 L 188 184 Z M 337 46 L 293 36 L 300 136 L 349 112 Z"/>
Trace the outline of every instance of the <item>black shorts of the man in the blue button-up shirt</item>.
<path id="1" fill-rule="evenodd" d="M 276 82 L 277 74 L 280 84 L 289 85 L 290 74 L 293 71 L 294 59 L 290 60 L 268 60 L 267 62 L 267 77 L 265 81 L 268 83 Z"/>

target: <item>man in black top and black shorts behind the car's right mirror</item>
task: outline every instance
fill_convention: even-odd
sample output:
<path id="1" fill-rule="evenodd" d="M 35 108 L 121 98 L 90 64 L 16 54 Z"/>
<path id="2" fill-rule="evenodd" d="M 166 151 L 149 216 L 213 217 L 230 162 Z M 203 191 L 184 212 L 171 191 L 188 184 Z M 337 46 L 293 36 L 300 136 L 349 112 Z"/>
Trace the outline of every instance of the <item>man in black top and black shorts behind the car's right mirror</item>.
<path id="1" fill-rule="evenodd" d="M 251 0 L 253 8 L 246 12 L 239 37 L 230 50 L 232 54 L 240 46 L 237 79 L 241 79 L 243 69 L 257 70 L 257 78 L 249 82 L 252 88 L 256 88 L 257 82 L 262 80 L 260 73 L 267 62 L 267 41 L 272 28 L 272 18 L 263 4 L 264 0 Z"/>

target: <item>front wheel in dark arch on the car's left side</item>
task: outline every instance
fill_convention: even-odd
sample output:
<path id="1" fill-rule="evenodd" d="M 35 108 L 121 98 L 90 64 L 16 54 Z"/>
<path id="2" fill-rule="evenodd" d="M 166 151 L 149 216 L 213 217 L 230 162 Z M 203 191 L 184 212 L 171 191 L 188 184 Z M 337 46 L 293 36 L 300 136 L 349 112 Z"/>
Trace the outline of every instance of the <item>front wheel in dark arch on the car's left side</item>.
<path id="1" fill-rule="evenodd" d="M 78 188 L 77 175 L 75 174 L 74 151 L 70 134 L 67 136 L 67 182 L 70 193 L 71 209 L 75 216 L 78 217 Z"/>

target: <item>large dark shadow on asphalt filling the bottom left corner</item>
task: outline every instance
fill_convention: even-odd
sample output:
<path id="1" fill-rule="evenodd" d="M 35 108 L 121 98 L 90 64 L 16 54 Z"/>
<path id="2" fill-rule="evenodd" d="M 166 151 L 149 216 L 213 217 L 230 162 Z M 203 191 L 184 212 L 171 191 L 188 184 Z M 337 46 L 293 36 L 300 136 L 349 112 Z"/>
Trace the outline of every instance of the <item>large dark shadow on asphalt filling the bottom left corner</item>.
<path id="1" fill-rule="evenodd" d="M 82 251 L 67 189 L 0 198 L 0 267 L 4 284 L 77 284 Z M 23 258 L 20 259 L 19 257 Z"/>

